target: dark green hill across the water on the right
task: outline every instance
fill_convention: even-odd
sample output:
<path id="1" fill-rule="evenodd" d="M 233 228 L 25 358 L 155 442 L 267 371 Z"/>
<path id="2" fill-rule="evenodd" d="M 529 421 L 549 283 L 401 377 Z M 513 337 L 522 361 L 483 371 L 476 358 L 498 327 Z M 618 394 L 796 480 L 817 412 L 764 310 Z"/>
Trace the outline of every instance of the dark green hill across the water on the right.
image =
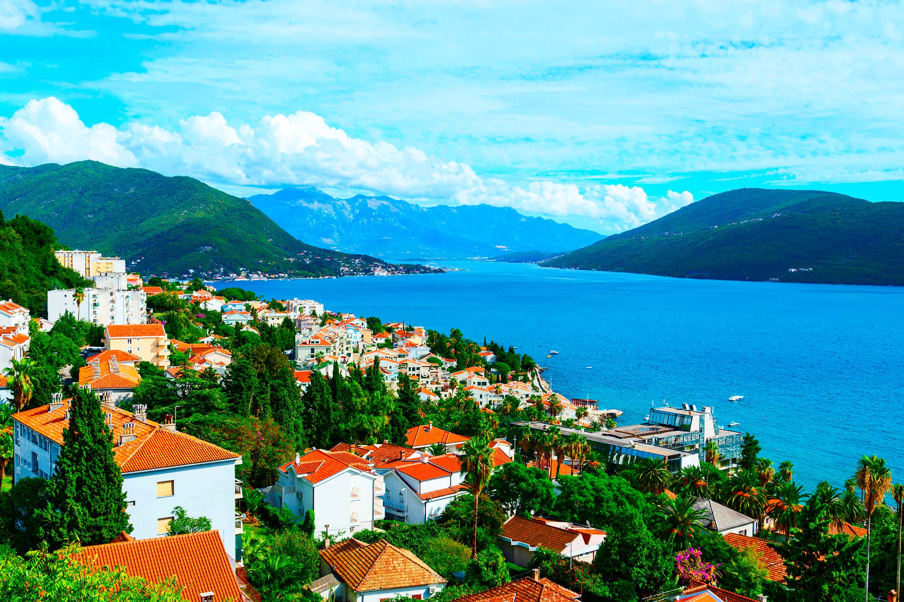
<path id="1" fill-rule="evenodd" d="M 544 262 L 717 280 L 904 285 L 904 203 L 730 190 Z"/>

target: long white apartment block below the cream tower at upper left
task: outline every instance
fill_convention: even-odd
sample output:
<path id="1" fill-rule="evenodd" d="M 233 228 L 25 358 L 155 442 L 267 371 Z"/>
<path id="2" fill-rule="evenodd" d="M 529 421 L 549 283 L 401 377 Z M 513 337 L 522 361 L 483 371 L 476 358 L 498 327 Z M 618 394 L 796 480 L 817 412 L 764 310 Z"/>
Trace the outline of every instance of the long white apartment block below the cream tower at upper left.
<path id="1" fill-rule="evenodd" d="M 144 324 L 147 293 L 142 290 L 112 288 L 82 289 L 85 298 L 79 303 L 75 289 L 47 292 L 47 313 L 52 322 L 69 311 L 79 320 L 101 326 L 110 324 Z"/>

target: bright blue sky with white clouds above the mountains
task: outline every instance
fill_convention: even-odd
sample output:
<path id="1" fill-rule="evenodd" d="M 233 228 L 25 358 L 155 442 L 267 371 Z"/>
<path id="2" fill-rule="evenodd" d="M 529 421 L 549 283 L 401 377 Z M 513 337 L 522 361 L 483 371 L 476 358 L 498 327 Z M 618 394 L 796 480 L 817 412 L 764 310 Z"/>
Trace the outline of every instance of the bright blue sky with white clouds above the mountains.
<path id="1" fill-rule="evenodd" d="M 0 162 L 486 202 L 612 233 L 734 188 L 901 200 L 883 2 L 0 2 Z"/>

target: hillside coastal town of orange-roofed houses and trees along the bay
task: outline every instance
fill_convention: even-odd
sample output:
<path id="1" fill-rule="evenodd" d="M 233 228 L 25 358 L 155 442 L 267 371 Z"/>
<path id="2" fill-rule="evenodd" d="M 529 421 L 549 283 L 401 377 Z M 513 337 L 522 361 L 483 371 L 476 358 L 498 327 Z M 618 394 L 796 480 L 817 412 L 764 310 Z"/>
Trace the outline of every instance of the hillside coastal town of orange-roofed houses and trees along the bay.
<path id="1" fill-rule="evenodd" d="M 518 341 L 52 261 L 82 285 L 0 300 L 0 599 L 898 600 L 882 458 L 805 492 L 714 405 L 623 424 Z"/>

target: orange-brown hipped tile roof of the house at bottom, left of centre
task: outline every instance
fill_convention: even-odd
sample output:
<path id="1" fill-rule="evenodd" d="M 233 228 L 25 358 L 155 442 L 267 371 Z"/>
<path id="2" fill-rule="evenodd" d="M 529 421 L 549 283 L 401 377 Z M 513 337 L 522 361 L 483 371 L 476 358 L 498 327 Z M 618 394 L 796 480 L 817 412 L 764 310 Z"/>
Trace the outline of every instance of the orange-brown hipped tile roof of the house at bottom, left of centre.
<path id="1" fill-rule="evenodd" d="M 446 583 L 413 553 L 384 540 L 371 544 L 345 540 L 320 551 L 320 556 L 354 591 Z"/>

